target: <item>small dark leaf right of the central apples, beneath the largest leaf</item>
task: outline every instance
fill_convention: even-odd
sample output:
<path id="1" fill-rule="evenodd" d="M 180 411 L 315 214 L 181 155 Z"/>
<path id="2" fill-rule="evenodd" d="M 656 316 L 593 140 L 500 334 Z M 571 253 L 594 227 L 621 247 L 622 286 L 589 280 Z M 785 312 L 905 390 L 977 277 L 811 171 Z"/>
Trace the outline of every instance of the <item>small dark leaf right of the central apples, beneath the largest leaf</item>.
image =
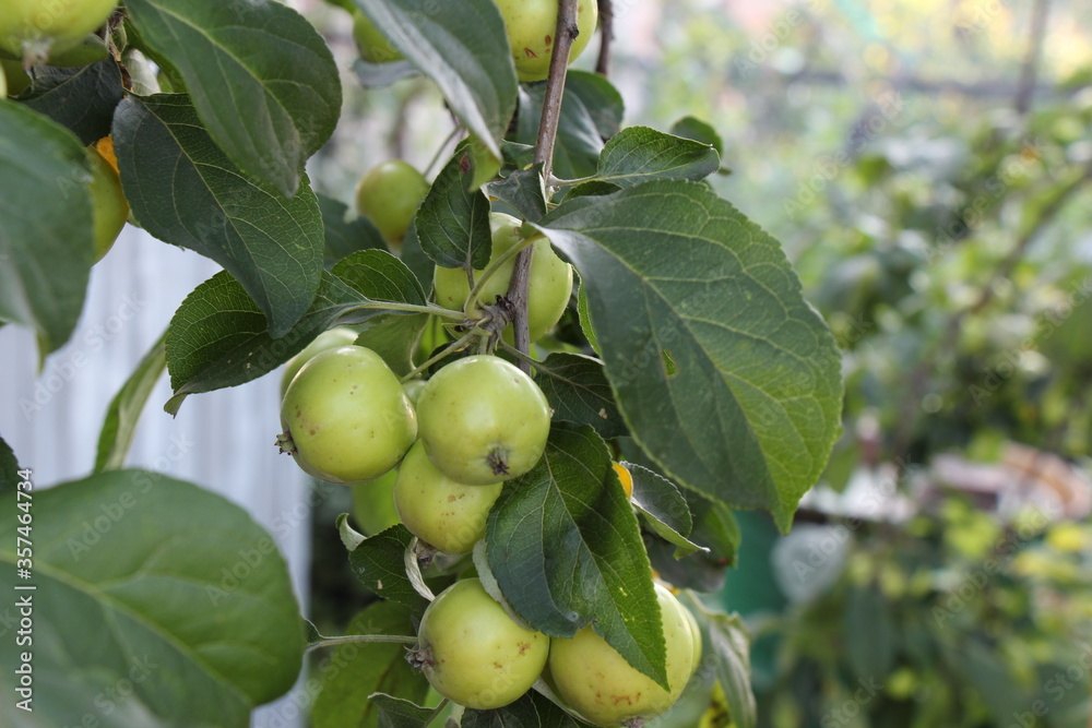
<path id="1" fill-rule="evenodd" d="M 579 354 L 554 353 L 534 368 L 535 382 L 556 421 L 591 425 L 605 439 L 626 434 L 603 362 Z"/>

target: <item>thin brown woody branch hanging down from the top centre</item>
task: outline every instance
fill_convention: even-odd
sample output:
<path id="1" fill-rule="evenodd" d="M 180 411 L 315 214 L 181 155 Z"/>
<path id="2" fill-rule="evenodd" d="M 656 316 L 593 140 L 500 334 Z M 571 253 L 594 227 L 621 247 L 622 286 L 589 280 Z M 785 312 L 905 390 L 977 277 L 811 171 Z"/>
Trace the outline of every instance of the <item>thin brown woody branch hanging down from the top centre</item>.
<path id="1" fill-rule="evenodd" d="M 577 0 L 558 0 L 557 32 L 554 34 L 554 52 L 550 56 L 549 75 L 546 77 L 546 95 L 543 98 L 543 114 L 538 121 L 538 142 L 535 145 L 535 164 L 542 165 L 544 180 L 554 176 L 554 145 L 557 143 L 557 126 L 561 119 L 561 97 L 565 95 L 565 80 L 569 72 L 569 52 L 572 41 L 580 33 L 577 26 Z M 547 188 L 547 195 L 549 189 Z M 523 249 L 515 259 L 515 270 L 508 287 L 508 299 L 515 308 L 512 330 L 515 333 L 515 348 L 527 354 L 531 350 L 531 334 L 527 329 L 527 287 L 531 285 L 532 247 Z M 520 369 L 531 373 L 531 366 L 521 360 Z"/>

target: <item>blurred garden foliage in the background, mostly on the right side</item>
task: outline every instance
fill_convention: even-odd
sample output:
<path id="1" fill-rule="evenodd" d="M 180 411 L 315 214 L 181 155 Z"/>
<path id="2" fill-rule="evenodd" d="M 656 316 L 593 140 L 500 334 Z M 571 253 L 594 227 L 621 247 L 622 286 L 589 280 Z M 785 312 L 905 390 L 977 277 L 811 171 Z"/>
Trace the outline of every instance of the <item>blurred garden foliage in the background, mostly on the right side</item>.
<path id="1" fill-rule="evenodd" d="M 435 174 L 439 95 L 360 88 L 347 13 L 297 4 L 353 120 L 313 162 L 322 191 L 349 202 L 391 157 Z M 1092 726 L 1087 0 L 615 5 L 627 122 L 716 129 L 717 191 L 783 241 L 844 349 L 823 482 L 788 537 L 739 514 L 717 596 L 758 637 L 760 724 Z M 340 550 L 317 546 L 316 608 L 344 624 Z M 657 725 L 732 725 L 711 700 L 697 681 Z"/>

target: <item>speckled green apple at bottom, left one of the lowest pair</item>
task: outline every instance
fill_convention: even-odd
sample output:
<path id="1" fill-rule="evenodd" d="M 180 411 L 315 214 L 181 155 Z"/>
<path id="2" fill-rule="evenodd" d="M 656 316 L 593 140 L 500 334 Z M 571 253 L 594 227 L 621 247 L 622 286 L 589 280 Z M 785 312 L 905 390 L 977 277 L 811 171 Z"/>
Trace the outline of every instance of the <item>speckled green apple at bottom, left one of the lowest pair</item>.
<path id="1" fill-rule="evenodd" d="M 549 637 L 517 623 L 482 586 L 455 582 L 425 609 L 411 653 L 429 684 L 475 711 L 491 711 L 523 695 L 542 673 Z"/>

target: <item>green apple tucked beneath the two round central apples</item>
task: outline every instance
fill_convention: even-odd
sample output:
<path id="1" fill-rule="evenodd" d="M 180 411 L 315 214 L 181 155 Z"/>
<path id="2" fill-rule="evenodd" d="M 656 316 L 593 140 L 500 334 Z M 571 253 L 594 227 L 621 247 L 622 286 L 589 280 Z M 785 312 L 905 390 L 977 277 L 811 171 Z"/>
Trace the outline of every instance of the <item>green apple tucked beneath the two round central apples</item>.
<path id="1" fill-rule="evenodd" d="M 503 484 L 467 486 L 443 475 L 418 440 L 394 484 L 394 506 L 414 536 L 443 553 L 470 553 L 485 538 L 489 509 Z"/>

